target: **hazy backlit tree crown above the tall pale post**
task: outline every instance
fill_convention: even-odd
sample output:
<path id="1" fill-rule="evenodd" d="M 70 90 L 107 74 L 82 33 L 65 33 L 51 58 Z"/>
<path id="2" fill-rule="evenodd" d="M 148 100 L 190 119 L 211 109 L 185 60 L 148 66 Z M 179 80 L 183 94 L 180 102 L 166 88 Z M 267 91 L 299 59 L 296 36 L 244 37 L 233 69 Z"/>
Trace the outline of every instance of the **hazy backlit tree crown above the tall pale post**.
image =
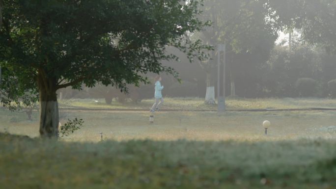
<path id="1" fill-rule="evenodd" d="M 272 47 L 278 37 L 277 23 L 265 22 L 267 8 L 264 0 L 205 0 L 201 19 L 210 20 L 213 25 L 202 31 L 201 38 L 214 46 L 226 42 L 227 51 L 236 54 L 252 52 L 257 47 L 267 50 L 260 44 L 270 40 Z"/>

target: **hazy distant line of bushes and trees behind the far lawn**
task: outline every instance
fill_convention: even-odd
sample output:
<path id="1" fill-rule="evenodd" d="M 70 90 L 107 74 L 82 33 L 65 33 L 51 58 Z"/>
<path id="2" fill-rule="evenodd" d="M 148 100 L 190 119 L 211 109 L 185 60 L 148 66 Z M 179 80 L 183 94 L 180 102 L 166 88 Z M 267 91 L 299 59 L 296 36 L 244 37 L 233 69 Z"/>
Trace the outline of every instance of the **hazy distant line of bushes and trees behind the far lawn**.
<path id="1" fill-rule="evenodd" d="M 294 40 L 294 39 L 293 39 Z M 328 54 L 320 46 L 292 42 L 291 51 L 281 44 L 272 49 L 267 61 L 252 65 L 252 69 L 236 76 L 236 97 L 336 97 L 336 56 Z M 181 83 L 171 76 L 163 75 L 164 95 L 168 97 L 205 96 L 206 74 L 199 64 L 166 62 L 180 73 Z M 248 62 L 248 60 L 246 60 Z M 244 68 L 242 68 L 244 69 Z M 230 96 L 230 76 L 227 76 L 227 93 Z M 112 87 L 95 87 L 89 90 L 67 90 L 64 98 L 105 98 L 123 102 L 131 99 L 140 102 L 153 98 L 153 86 L 129 86 L 129 94 Z M 104 96 L 105 95 L 105 96 Z M 109 102 L 109 100 L 107 101 Z"/>

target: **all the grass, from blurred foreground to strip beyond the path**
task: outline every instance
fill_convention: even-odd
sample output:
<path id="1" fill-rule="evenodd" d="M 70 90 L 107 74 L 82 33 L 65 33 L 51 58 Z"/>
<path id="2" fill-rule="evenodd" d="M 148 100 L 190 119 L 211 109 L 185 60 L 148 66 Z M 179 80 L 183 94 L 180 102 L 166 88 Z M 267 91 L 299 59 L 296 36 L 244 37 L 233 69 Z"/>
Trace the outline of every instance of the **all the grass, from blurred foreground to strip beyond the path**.
<path id="1" fill-rule="evenodd" d="M 236 108 L 334 103 L 230 101 Z M 201 99 L 166 99 L 165 106 L 197 103 L 204 106 Z M 63 124 L 82 118 L 84 127 L 58 142 L 42 141 L 17 136 L 38 136 L 38 112 L 27 121 L 25 113 L 0 109 L 0 133 L 9 133 L 0 134 L 0 189 L 336 189 L 336 111 L 156 112 L 154 124 L 147 111 L 60 115 Z M 272 123 L 267 136 L 264 120 Z"/>

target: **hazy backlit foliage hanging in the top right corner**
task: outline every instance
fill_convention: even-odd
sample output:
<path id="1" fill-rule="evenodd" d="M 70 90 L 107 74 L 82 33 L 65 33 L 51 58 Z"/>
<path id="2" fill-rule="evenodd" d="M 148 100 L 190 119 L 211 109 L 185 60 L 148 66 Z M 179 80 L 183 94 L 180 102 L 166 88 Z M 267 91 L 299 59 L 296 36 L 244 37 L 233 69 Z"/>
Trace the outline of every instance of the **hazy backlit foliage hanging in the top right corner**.
<path id="1" fill-rule="evenodd" d="M 268 0 L 271 18 L 280 27 L 301 29 L 301 41 L 322 45 L 336 53 L 335 0 Z"/>

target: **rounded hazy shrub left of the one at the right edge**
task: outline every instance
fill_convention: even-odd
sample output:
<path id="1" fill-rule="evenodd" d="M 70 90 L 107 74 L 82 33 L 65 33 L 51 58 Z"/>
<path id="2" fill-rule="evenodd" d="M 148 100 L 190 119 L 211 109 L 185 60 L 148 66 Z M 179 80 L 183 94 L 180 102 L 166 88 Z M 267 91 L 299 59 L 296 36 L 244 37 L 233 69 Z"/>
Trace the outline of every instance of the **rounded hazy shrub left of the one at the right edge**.
<path id="1" fill-rule="evenodd" d="M 300 78 L 296 81 L 295 86 L 302 97 L 313 96 L 316 89 L 316 81 L 311 78 Z"/>

